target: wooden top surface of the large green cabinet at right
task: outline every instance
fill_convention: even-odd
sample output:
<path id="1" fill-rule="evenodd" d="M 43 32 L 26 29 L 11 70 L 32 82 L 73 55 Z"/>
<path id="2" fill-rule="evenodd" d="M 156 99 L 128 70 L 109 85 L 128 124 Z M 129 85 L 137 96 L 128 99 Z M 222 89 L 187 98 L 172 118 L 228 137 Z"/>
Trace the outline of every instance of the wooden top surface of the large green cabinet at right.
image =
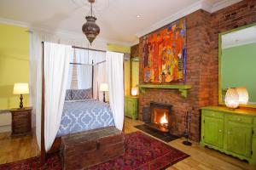
<path id="1" fill-rule="evenodd" d="M 208 111 L 223 111 L 230 114 L 239 114 L 244 116 L 256 116 L 256 110 L 255 109 L 236 109 L 236 110 L 230 110 L 229 108 L 225 106 L 207 106 L 202 107 L 202 110 L 208 110 Z"/>

